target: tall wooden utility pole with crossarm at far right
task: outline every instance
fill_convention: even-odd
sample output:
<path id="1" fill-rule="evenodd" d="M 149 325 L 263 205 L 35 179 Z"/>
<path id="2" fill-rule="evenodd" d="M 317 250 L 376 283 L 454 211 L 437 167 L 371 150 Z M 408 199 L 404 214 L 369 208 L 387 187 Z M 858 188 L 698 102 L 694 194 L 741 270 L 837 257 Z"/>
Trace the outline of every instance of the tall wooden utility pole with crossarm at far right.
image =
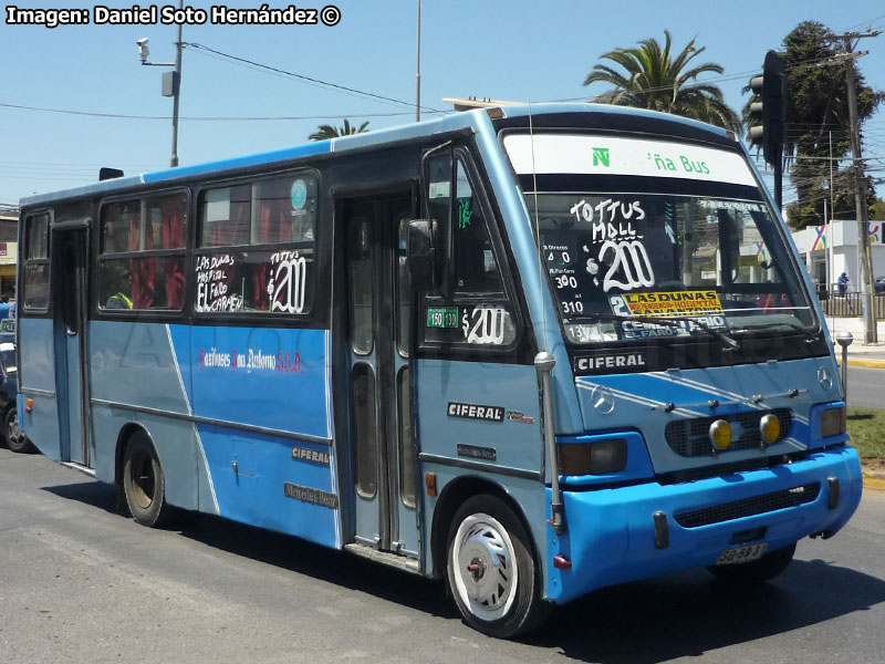
<path id="1" fill-rule="evenodd" d="M 857 82 L 854 75 L 852 40 L 877 37 L 882 31 L 846 32 L 839 35 L 845 48 L 845 85 L 847 87 L 848 121 L 851 122 L 852 180 L 854 181 L 854 206 L 857 210 L 857 253 L 860 257 L 861 310 L 864 323 L 864 343 L 876 343 L 876 312 L 873 300 L 873 266 L 870 256 L 870 219 L 866 208 L 866 183 L 861 160 L 861 132 L 857 122 Z M 856 56 L 866 55 L 865 52 Z"/>

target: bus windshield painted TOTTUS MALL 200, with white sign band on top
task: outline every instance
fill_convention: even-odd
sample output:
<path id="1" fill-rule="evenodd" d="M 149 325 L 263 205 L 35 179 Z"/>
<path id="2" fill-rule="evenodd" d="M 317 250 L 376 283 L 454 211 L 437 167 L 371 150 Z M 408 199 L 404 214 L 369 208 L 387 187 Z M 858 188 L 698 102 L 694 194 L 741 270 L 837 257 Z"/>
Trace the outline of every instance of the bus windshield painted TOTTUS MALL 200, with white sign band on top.
<path id="1" fill-rule="evenodd" d="M 569 172 L 558 173 L 563 166 L 553 165 L 548 155 L 556 146 L 535 136 L 535 156 L 541 153 L 546 173 L 520 179 L 532 224 L 538 210 L 543 263 L 570 342 L 814 328 L 778 222 L 738 153 L 626 138 L 607 142 L 608 166 L 586 149 L 597 169 L 606 168 L 594 177 L 581 173 L 593 164 L 575 163 L 573 156 L 564 165 Z M 571 145 L 572 151 L 582 147 Z M 614 148 L 628 151 L 634 159 L 637 152 L 648 153 L 641 166 L 652 173 L 639 170 L 644 177 L 636 177 L 635 162 L 618 168 Z M 679 154 L 670 159 L 667 149 Z M 511 149 L 511 159 L 518 167 L 517 151 Z M 721 165 L 716 159 L 723 156 L 730 159 L 727 168 L 717 169 Z M 659 172 L 656 158 L 664 164 Z M 690 174 L 684 173 L 686 167 Z M 725 181 L 709 179 L 717 170 Z"/>

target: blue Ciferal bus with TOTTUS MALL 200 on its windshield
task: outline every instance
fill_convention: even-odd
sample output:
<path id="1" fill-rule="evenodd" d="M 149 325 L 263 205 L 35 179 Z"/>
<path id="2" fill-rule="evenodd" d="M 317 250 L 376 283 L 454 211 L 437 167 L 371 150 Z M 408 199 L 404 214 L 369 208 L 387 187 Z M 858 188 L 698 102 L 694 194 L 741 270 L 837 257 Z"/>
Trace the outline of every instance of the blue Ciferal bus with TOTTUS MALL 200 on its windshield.
<path id="1" fill-rule="evenodd" d="M 589 104 L 21 205 L 21 425 L 133 517 L 445 580 L 509 637 L 595 589 L 740 583 L 861 499 L 832 343 L 737 137 Z"/>

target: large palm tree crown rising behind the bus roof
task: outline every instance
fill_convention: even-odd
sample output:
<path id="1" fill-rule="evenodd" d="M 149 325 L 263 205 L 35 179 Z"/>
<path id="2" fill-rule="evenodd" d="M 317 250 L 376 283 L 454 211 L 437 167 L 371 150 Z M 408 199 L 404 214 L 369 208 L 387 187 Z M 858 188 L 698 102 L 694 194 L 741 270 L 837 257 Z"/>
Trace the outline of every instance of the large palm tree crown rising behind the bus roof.
<path id="1" fill-rule="evenodd" d="M 693 39 L 676 58 L 671 58 L 673 39 L 669 30 L 665 30 L 664 34 L 666 41 L 663 49 L 657 40 L 644 39 L 638 42 L 638 48 L 615 49 L 604 53 L 602 60 L 611 60 L 624 68 L 624 72 L 605 64 L 594 65 L 584 85 L 602 82 L 615 86 L 594 101 L 663 111 L 740 132 L 740 118 L 725 103 L 722 91 L 717 85 L 696 82 L 700 74 L 721 74 L 725 71 L 722 66 L 705 62 L 686 69 L 706 46 L 696 48 Z"/>

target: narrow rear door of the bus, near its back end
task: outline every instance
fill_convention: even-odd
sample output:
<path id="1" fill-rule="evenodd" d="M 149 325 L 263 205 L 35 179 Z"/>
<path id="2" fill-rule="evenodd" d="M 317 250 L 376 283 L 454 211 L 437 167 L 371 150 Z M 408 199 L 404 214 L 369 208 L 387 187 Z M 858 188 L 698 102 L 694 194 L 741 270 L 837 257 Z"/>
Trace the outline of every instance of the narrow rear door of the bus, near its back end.
<path id="1" fill-rule="evenodd" d="M 62 461 L 92 467 L 86 380 L 86 266 L 88 230 L 54 228 L 54 335 Z M 65 439 L 66 438 L 66 439 Z"/>

